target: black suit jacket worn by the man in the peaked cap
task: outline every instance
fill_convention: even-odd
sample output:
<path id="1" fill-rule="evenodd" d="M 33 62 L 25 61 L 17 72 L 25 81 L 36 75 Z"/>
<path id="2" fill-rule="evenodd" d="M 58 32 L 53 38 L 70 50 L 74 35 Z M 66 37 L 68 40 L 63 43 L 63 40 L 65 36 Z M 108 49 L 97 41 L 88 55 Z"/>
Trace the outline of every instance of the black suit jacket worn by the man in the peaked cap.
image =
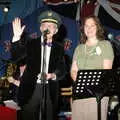
<path id="1" fill-rule="evenodd" d="M 12 44 L 11 51 L 13 61 L 17 61 L 24 56 L 27 57 L 27 67 L 22 76 L 22 81 L 19 87 L 18 101 L 20 106 L 26 104 L 32 96 L 41 66 L 40 38 L 26 40 L 24 43 L 22 43 L 21 41 L 22 40 Z M 63 79 L 63 77 L 65 76 L 64 48 L 60 43 L 55 41 L 53 42 L 51 48 L 48 73 L 56 73 L 57 76 L 56 81 L 49 81 L 49 85 L 51 86 L 50 95 L 52 96 L 52 99 L 54 101 L 54 87 L 58 86 L 57 81 Z M 56 92 L 58 92 L 58 88 L 56 89 Z"/>

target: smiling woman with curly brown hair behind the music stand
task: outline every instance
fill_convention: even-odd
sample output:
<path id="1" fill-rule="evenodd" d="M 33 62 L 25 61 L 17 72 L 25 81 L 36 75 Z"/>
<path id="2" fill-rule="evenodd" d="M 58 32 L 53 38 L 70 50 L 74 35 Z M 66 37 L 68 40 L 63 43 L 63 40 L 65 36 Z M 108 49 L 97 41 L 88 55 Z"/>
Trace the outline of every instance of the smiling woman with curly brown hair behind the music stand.
<path id="1" fill-rule="evenodd" d="M 76 81 L 79 70 L 112 69 L 114 53 L 111 44 L 104 38 L 104 29 L 96 16 L 85 18 L 81 30 L 81 44 L 73 55 L 71 77 Z M 101 100 L 101 120 L 107 119 L 109 97 Z M 97 120 L 95 97 L 80 96 L 73 100 L 72 120 Z"/>

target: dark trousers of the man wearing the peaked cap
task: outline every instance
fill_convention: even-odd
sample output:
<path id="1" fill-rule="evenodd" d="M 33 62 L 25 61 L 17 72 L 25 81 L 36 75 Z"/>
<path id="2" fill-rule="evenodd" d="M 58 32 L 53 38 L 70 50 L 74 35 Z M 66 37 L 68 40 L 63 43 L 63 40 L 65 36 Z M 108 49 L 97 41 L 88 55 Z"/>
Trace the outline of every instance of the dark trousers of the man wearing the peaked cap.
<path id="1" fill-rule="evenodd" d="M 41 84 L 37 83 L 32 98 L 21 108 L 19 113 L 20 120 L 56 120 L 57 111 L 50 97 L 49 85 L 45 85 L 45 101 L 43 100 L 42 87 Z M 43 111 L 44 102 L 46 103 L 44 108 L 45 111 Z M 42 115 L 45 116 L 43 117 Z"/>

